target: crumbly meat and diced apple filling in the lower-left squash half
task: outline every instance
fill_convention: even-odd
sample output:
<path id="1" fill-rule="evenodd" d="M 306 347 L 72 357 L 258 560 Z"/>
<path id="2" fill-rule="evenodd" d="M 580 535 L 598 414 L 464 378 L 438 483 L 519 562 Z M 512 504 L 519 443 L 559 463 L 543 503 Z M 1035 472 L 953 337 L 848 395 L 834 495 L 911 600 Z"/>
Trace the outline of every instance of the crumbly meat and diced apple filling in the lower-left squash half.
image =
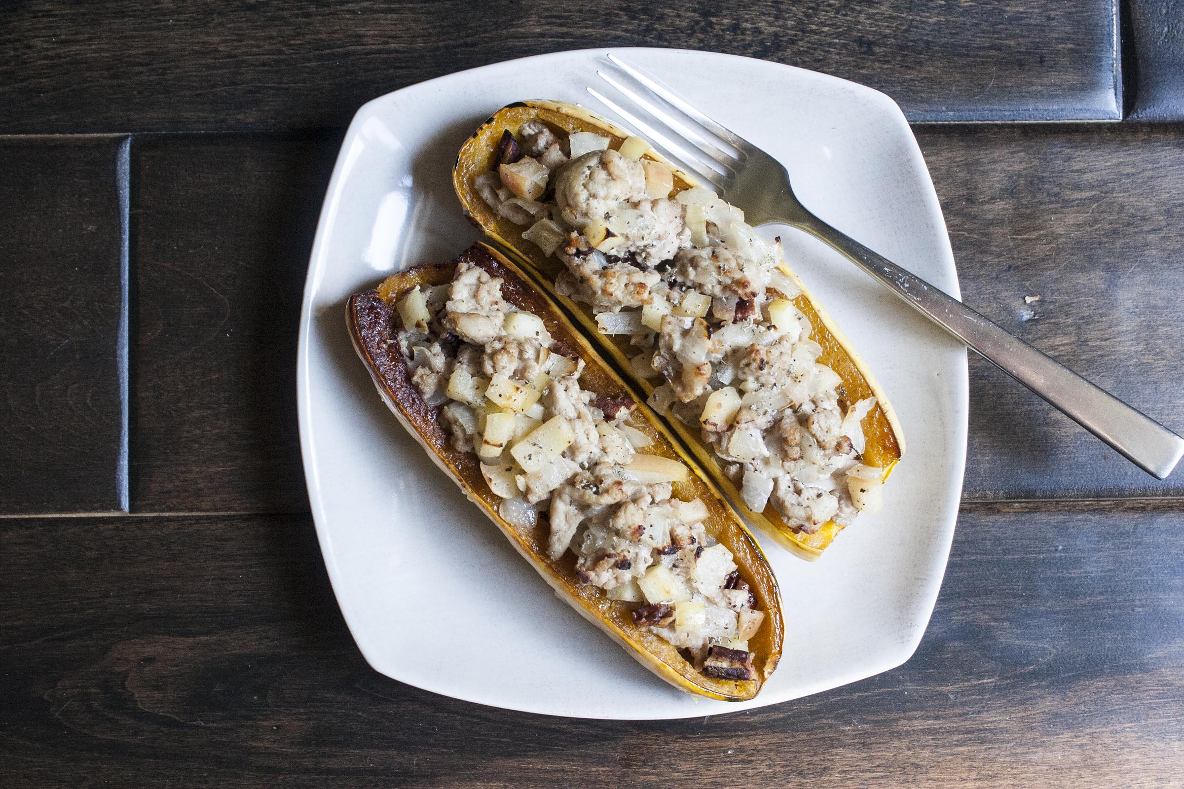
<path id="1" fill-rule="evenodd" d="M 541 132 L 522 144 L 545 169 L 566 161 Z M 765 614 L 704 530 L 707 506 L 673 496 L 687 466 L 645 453 L 633 401 L 581 388 L 584 361 L 553 351 L 542 319 L 478 266 L 462 263 L 450 284 L 411 289 L 395 306 L 413 384 L 452 446 L 478 457 L 501 516 L 525 531 L 545 518 L 552 561 L 572 551 L 580 583 L 631 604 L 639 627 L 704 674 L 753 679 L 748 639 Z"/>

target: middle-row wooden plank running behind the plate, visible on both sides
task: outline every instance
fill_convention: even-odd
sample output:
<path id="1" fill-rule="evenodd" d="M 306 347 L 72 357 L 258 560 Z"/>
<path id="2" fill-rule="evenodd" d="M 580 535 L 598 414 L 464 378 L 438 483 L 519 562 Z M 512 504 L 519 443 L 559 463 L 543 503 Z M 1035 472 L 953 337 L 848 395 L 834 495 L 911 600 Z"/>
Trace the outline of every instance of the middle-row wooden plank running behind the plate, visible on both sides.
<path id="1" fill-rule="evenodd" d="M 1184 431 L 1179 132 L 918 135 L 967 303 Z M 290 370 L 336 144 L 270 135 L 137 144 L 137 511 L 303 511 Z M 1177 478 L 1143 474 L 982 360 L 971 369 L 967 500 L 1182 494 Z"/>

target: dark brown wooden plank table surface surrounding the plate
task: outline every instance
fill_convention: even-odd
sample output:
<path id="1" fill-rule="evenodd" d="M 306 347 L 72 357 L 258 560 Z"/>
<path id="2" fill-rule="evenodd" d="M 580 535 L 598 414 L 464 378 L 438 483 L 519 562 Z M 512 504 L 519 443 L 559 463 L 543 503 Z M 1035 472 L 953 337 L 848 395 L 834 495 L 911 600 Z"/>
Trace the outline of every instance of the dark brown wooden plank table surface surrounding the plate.
<path id="1" fill-rule="evenodd" d="M 598 45 L 884 90 L 966 300 L 1184 432 L 1180 0 L 2 4 L 0 785 L 1184 785 L 1184 476 L 977 358 L 950 568 L 900 668 L 622 724 L 365 665 L 292 380 L 342 129 L 425 78 Z"/>

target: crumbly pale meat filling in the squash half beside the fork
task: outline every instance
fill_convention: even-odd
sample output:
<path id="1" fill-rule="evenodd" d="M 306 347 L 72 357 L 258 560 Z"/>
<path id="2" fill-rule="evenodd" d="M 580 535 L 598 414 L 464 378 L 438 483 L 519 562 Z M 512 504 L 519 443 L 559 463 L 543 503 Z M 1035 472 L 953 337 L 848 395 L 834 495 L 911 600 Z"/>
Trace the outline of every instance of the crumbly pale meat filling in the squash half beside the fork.
<path id="1" fill-rule="evenodd" d="M 875 399 L 848 402 L 819 363 L 779 241 L 714 192 L 675 193 L 644 141 L 609 144 L 530 121 L 474 186 L 564 264 L 556 290 L 628 339 L 633 371 L 661 379 L 650 403 L 701 429 L 749 510 L 815 533 L 879 506 L 882 470 L 862 457 Z"/>

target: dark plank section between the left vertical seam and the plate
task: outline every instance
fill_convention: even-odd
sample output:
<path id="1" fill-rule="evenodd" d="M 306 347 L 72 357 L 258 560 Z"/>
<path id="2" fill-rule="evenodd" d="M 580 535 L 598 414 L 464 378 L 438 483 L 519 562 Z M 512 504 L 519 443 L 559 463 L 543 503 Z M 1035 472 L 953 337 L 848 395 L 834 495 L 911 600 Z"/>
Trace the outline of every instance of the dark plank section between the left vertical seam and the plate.
<path id="1" fill-rule="evenodd" d="M 133 510 L 307 510 L 296 334 L 339 145 L 136 142 Z"/>

